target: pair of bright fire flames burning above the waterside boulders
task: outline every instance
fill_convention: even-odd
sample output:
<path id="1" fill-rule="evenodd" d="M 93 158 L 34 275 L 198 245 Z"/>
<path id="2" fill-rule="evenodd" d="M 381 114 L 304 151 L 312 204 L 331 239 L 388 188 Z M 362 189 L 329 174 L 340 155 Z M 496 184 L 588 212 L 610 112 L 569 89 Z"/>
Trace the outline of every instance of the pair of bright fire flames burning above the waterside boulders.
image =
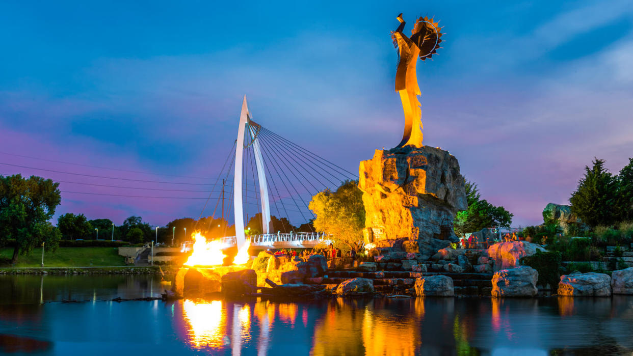
<path id="1" fill-rule="evenodd" d="M 199 232 L 194 234 L 194 244 L 192 245 L 193 253 L 185 262 L 185 266 L 221 266 L 224 262 L 224 258 L 227 257 L 222 252 L 222 249 L 227 246 L 220 242 L 220 240 L 206 241 L 206 238 Z M 246 264 L 250 256 L 248 254 L 248 247 L 251 244 L 249 242 L 237 251 L 235 255 L 234 264 Z"/>

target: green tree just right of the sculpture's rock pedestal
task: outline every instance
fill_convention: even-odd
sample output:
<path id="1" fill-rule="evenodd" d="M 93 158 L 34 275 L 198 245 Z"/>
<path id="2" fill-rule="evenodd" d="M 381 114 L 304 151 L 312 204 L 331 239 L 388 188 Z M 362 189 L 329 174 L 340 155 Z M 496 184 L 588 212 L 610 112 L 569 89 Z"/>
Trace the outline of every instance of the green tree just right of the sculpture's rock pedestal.
<path id="1" fill-rule="evenodd" d="M 477 184 L 471 181 L 466 181 L 466 199 L 468 209 L 458 212 L 454 219 L 454 231 L 458 236 L 492 226 L 510 227 L 514 214 L 503 206 L 494 206 L 481 199 Z"/>

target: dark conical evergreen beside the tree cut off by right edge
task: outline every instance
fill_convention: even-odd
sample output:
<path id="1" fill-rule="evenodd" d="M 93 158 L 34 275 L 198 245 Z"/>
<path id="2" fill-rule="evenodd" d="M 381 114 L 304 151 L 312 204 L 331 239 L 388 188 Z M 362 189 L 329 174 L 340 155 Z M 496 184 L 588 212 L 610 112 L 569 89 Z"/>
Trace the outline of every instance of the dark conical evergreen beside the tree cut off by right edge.
<path id="1" fill-rule="evenodd" d="M 569 199 L 572 212 L 589 226 L 612 225 L 617 221 L 618 180 L 605 168 L 605 160 L 594 157 Z"/>

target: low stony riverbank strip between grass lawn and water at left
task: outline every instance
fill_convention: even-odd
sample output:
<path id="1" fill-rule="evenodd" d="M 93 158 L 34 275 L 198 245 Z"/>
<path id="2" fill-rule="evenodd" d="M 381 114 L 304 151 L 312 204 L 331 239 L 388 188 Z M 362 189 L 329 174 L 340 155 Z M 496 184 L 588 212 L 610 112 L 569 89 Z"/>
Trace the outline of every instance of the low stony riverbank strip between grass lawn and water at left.
<path id="1" fill-rule="evenodd" d="M 0 274 L 173 274 L 176 266 L 4 267 Z"/>

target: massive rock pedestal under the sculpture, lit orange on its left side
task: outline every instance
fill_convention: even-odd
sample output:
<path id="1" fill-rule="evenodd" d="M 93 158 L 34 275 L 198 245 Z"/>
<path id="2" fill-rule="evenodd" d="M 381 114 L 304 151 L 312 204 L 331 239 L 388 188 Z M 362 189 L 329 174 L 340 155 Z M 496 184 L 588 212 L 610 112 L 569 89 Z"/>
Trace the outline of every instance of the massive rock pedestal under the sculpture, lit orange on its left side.
<path id="1" fill-rule="evenodd" d="M 419 252 L 457 242 L 453 218 L 467 209 L 460 164 L 448 151 L 406 146 L 376 150 L 361 161 L 358 187 L 365 205 L 365 240 L 406 238 Z"/>

